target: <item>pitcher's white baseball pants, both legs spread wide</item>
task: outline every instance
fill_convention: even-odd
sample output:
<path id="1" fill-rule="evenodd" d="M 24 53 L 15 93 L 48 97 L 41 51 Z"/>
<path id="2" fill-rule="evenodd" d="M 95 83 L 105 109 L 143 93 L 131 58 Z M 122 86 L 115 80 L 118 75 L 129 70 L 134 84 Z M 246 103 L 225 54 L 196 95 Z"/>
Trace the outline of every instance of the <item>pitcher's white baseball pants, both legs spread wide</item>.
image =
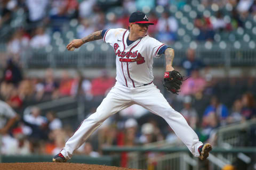
<path id="1" fill-rule="evenodd" d="M 79 148 L 103 121 L 133 104 L 145 107 L 148 111 L 163 117 L 190 152 L 194 156 L 199 156 L 198 147 L 203 143 L 198 140 L 197 134 L 190 128 L 185 118 L 174 111 L 153 83 L 137 88 L 127 88 L 118 82 L 103 99 L 97 111 L 81 123 L 78 130 L 66 142 L 61 154 L 70 159 L 74 150 Z"/>

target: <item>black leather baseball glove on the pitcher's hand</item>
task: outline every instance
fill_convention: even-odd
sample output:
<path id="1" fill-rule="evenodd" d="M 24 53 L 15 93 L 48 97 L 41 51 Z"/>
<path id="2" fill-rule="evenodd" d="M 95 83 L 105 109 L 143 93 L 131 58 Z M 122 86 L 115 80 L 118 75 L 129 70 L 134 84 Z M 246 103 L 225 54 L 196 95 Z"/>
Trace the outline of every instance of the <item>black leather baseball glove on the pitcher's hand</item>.
<path id="1" fill-rule="evenodd" d="M 184 76 L 178 71 L 173 70 L 170 72 L 165 72 L 163 86 L 167 89 L 167 91 L 178 95 L 182 81 L 184 81 L 183 78 Z"/>

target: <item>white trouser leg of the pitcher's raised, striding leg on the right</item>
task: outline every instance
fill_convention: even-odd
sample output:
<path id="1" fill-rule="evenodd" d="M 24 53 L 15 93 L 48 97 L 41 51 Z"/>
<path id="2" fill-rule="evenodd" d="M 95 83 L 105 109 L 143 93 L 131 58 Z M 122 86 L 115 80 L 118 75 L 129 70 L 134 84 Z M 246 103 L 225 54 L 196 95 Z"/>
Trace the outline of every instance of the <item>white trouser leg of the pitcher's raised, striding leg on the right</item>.
<path id="1" fill-rule="evenodd" d="M 134 101 L 150 112 L 163 117 L 190 152 L 194 156 L 199 156 L 198 148 L 203 143 L 199 141 L 197 134 L 190 128 L 185 118 L 169 105 L 159 89 L 155 86 L 147 87 L 147 92 L 138 93 Z"/>

